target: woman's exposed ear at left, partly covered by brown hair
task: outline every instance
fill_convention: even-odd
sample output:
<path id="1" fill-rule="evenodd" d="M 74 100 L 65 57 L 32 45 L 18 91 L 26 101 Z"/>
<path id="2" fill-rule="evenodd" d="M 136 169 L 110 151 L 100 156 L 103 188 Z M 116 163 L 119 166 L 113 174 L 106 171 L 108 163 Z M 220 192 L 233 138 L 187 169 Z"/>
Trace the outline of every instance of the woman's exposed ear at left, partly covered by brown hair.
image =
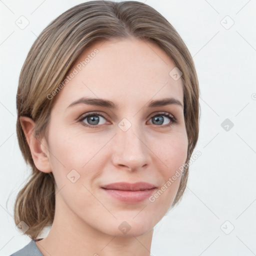
<path id="1" fill-rule="evenodd" d="M 33 130 L 35 122 L 26 116 L 20 116 L 19 121 L 25 134 L 27 144 L 29 145 L 34 165 L 42 172 L 51 172 L 47 143 L 44 138 L 40 139 L 35 137 Z"/>

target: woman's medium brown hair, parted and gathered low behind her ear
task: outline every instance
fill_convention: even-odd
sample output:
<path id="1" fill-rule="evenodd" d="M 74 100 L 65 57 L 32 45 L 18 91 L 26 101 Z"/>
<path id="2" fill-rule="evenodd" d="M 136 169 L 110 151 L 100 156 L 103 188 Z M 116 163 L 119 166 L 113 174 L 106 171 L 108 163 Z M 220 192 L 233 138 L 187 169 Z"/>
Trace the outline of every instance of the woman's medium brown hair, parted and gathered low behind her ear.
<path id="1" fill-rule="evenodd" d="M 182 71 L 184 120 L 188 137 L 187 159 L 196 145 L 199 129 L 199 88 L 192 57 L 173 26 L 155 9 L 137 1 L 88 1 L 63 12 L 39 34 L 20 71 L 16 95 L 18 144 L 25 162 L 31 166 L 29 180 L 18 192 L 14 221 L 24 221 L 24 233 L 35 239 L 50 226 L 55 211 L 55 180 L 34 165 L 19 117 L 35 123 L 34 136 L 47 138 L 50 110 L 55 90 L 68 74 L 80 53 L 95 42 L 113 38 L 139 38 L 154 42 Z M 172 207 L 186 187 L 188 167 L 184 168 Z"/>

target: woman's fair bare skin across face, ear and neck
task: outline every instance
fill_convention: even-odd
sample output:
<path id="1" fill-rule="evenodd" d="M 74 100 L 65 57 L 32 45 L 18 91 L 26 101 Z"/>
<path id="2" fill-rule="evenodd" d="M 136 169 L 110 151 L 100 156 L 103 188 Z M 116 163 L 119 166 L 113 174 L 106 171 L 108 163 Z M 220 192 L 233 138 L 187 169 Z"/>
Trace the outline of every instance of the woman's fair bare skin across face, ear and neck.
<path id="1" fill-rule="evenodd" d="M 73 67 L 95 48 L 99 52 L 54 98 L 47 141 L 36 140 L 34 122 L 20 117 L 36 167 L 52 171 L 57 183 L 53 224 L 36 245 L 47 256 L 150 255 L 153 227 L 171 206 L 181 175 L 154 202 L 127 204 L 103 193 L 100 186 L 145 181 L 160 189 L 185 163 L 188 141 L 182 106 L 146 107 L 165 97 L 183 105 L 182 81 L 169 75 L 175 64 L 159 46 L 134 38 L 97 42 Z M 118 108 L 82 103 L 67 108 L 81 96 L 108 99 Z M 91 124 L 89 118 L 76 120 L 93 111 L 104 115 L 96 115 L 96 128 L 82 125 Z M 165 116 L 162 124 L 154 122 L 152 117 L 161 118 L 163 111 L 177 122 Z M 123 118 L 131 124 L 126 131 L 118 126 Z M 74 183 L 66 176 L 72 169 L 80 175 Z M 126 233 L 118 228 L 123 221 L 130 226 Z"/>

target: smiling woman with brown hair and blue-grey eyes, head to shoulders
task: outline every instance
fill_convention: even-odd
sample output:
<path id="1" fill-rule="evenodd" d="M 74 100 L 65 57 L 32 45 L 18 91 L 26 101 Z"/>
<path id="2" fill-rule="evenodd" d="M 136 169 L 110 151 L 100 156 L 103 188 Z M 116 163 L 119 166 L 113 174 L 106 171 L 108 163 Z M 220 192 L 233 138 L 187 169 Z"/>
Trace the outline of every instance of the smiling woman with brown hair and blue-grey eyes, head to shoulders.
<path id="1" fill-rule="evenodd" d="M 150 255 L 186 186 L 198 97 L 187 47 L 152 7 L 88 1 L 53 20 L 19 77 L 32 175 L 14 218 L 32 240 L 12 255 Z"/>

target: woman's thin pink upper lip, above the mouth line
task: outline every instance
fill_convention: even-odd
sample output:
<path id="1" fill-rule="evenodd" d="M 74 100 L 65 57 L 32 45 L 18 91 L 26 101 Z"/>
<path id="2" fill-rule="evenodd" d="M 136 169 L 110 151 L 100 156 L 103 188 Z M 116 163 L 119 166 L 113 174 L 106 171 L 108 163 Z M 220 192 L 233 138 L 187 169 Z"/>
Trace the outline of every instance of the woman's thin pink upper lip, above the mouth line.
<path id="1" fill-rule="evenodd" d="M 115 182 L 107 185 L 101 186 L 106 189 L 117 189 L 124 191 L 138 191 L 155 188 L 156 186 L 147 182 L 136 182 L 136 183 L 127 183 L 127 182 Z"/>

